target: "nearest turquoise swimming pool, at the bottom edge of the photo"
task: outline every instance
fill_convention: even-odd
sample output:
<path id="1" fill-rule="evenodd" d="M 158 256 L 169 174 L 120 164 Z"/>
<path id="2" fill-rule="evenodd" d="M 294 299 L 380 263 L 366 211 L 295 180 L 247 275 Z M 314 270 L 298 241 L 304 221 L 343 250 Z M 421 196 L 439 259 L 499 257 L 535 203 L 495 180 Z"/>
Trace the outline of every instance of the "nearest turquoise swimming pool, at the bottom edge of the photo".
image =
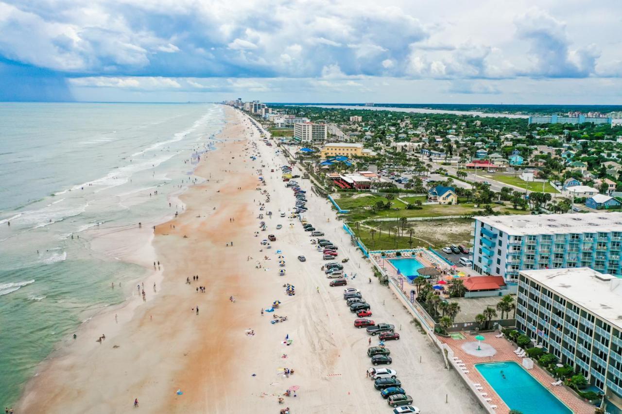
<path id="1" fill-rule="evenodd" d="M 572 414 L 572 411 L 516 362 L 475 364 L 510 410 L 523 414 Z"/>

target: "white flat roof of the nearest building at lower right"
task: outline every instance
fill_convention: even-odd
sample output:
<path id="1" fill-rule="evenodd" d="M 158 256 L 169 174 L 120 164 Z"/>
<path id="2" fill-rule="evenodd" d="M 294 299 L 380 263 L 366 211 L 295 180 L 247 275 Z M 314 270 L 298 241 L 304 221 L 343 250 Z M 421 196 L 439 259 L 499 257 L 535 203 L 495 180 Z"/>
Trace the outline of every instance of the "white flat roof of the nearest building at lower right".
<path id="1" fill-rule="evenodd" d="M 521 274 L 622 329 L 622 279 L 589 267 L 522 270 Z"/>

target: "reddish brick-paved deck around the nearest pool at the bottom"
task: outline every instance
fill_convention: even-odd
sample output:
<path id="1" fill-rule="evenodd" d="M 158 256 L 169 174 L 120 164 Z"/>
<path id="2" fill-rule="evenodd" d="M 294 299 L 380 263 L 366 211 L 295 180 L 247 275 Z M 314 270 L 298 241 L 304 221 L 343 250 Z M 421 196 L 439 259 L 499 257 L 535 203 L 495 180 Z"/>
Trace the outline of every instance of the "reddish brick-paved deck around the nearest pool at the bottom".
<path id="1" fill-rule="evenodd" d="M 481 386 L 483 387 L 483 390 L 479 392 L 488 393 L 488 395 L 486 395 L 486 398 L 491 398 L 492 400 L 491 402 L 489 402 L 489 404 L 493 404 L 498 407 L 494 411 L 499 414 L 508 414 L 509 413 L 508 406 L 503 402 L 501 397 L 499 397 L 499 395 L 497 395 L 496 392 L 494 392 L 493 387 L 488 385 L 488 382 L 486 382 L 484 377 L 475 368 L 475 364 L 481 364 L 485 362 L 514 361 L 514 362 L 517 362 L 518 364 L 521 364 L 522 366 L 522 359 L 516 356 L 516 354 L 514 354 L 514 349 L 516 349 L 516 347 L 513 346 L 513 344 L 505 338 L 495 338 L 494 335 L 498 334 L 497 332 L 483 333 L 481 335 L 483 335 L 486 338 L 486 340 L 483 342 L 493 346 L 494 349 L 496 349 L 497 353 L 491 357 L 476 357 L 476 356 L 467 354 L 466 352 L 462 351 L 462 348 L 461 348 L 462 344 L 465 343 L 465 341 L 475 341 L 475 336 L 471 336 L 468 333 L 463 333 L 463 334 L 466 337 L 466 339 L 452 339 L 452 338 L 444 338 L 440 336 L 437 336 L 437 338 L 439 338 L 441 342 L 450 346 L 452 348 L 454 356 L 458 357 L 458 359 L 461 359 L 462 362 L 466 364 L 466 369 L 469 371 L 469 373 L 466 374 L 466 377 L 468 377 L 470 381 L 470 384 L 468 385 L 472 386 L 473 384 L 477 384 L 477 383 L 481 384 Z M 559 398 L 562 402 L 564 402 L 564 404 L 567 405 L 567 407 L 569 407 L 573 413 L 575 414 L 593 414 L 594 413 L 595 407 L 593 405 L 590 405 L 584 402 L 583 400 L 581 400 L 580 398 L 577 398 L 564 385 L 559 385 L 558 387 L 553 387 L 552 385 L 550 385 L 550 383 L 554 382 L 556 379 L 551 377 L 547 371 L 545 371 L 540 366 L 538 366 L 536 362 L 534 362 L 533 369 L 529 369 L 527 371 L 529 372 L 529 374 L 532 375 L 532 377 L 536 378 L 542 385 L 544 385 L 544 387 L 547 390 L 552 392 L 555 395 L 555 397 Z"/>

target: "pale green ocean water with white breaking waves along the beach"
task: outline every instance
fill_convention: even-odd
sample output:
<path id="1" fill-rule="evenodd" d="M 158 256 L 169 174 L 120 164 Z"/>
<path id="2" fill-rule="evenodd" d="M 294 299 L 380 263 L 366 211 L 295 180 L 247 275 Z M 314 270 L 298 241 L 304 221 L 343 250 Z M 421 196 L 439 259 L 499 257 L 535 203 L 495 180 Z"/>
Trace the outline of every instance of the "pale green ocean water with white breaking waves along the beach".
<path id="1" fill-rule="evenodd" d="M 146 270 L 91 249 L 94 232 L 174 214 L 224 122 L 216 104 L 0 103 L 0 405 L 131 295 Z"/>

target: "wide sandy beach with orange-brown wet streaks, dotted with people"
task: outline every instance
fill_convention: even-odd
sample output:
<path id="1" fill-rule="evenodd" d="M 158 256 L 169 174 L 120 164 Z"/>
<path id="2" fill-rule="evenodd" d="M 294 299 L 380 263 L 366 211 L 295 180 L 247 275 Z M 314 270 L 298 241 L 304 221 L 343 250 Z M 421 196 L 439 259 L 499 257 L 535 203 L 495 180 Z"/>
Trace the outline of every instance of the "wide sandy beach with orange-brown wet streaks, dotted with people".
<path id="1" fill-rule="evenodd" d="M 285 407 L 292 414 L 389 412 L 366 378 L 369 337 L 353 328 L 343 288 L 328 287 L 320 254 L 299 221 L 279 216 L 294 205 L 292 191 L 281 181 L 284 159 L 275 154 L 276 145 L 262 142 L 248 117 L 225 110 L 221 144 L 202 157 L 195 175 L 205 182 L 180 196 L 183 211 L 155 231 L 154 224 L 143 224 L 100 241 L 116 244 L 119 257 L 152 269 L 151 274 L 137 281 L 123 306 L 95 316 L 75 341 L 42 363 L 16 413 L 124 413 L 135 398 L 136 410 L 150 413 L 263 414 Z M 261 157 L 251 160 L 253 154 Z M 310 190 L 309 182 L 299 182 Z M 271 198 L 265 211 L 259 211 L 266 196 L 258 189 Z M 481 412 L 389 289 L 368 282 L 371 267 L 349 245 L 327 201 L 312 191 L 307 195 L 310 223 L 340 247 L 338 259 L 350 258 L 344 269 L 348 286 L 361 290 L 373 320 L 393 323 L 401 334 L 400 341 L 388 344 L 391 368 L 414 405 L 434 413 Z M 272 211 L 264 218 L 267 231 L 255 237 L 257 216 L 267 211 Z M 267 234 L 277 237 L 272 249 L 260 245 Z M 147 247 L 132 250 L 135 237 Z M 284 276 L 278 275 L 277 249 L 286 262 Z M 299 262 L 298 255 L 307 261 Z M 284 283 L 295 285 L 295 296 L 285 295 Z M 270 313 L 261 315 L 274 300 L 282 302 L 275 313 L 287 321 L 272 324 Z M 101 334 L 106 339 L 98 343 Z M 285 377 L 284 368 L 295 373 Z M 292 386 L 299 387 L 296 397 L 279 405 L 279 395 Z"/>

